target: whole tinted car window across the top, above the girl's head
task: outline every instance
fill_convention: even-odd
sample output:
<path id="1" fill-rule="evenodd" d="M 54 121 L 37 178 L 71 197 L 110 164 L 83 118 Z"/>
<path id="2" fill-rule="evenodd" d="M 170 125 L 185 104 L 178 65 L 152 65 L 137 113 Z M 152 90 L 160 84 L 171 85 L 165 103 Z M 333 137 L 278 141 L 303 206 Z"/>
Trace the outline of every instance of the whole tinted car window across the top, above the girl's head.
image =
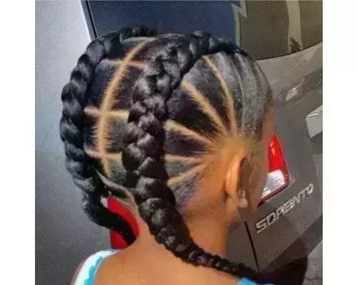
<path id="1" fill-rule="evenodd" d="M 94 36 L 120 26 L 159 32 L 210 31 L 256 59 L 285 56 L 322 41 L 322 1 L 88 1 Z"/>

